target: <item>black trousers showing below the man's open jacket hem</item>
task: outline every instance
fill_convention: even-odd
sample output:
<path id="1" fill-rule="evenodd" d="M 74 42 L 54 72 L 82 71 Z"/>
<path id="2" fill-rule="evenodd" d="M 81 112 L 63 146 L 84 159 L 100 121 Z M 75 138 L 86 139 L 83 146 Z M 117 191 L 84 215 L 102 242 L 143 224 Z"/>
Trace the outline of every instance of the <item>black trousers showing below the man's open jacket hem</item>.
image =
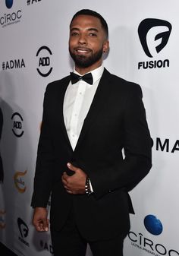
<path id="1" fill-rule="evenodd" d="M 70 213 L 63 229 L 56 231 L 51 228 L 54 256 L 85 256 L 89 244 L 93 256 L 123 256 L 124 237 L 96 242 L 86 241 L 80 235 L 74 220 L 74 213 Z"/>

